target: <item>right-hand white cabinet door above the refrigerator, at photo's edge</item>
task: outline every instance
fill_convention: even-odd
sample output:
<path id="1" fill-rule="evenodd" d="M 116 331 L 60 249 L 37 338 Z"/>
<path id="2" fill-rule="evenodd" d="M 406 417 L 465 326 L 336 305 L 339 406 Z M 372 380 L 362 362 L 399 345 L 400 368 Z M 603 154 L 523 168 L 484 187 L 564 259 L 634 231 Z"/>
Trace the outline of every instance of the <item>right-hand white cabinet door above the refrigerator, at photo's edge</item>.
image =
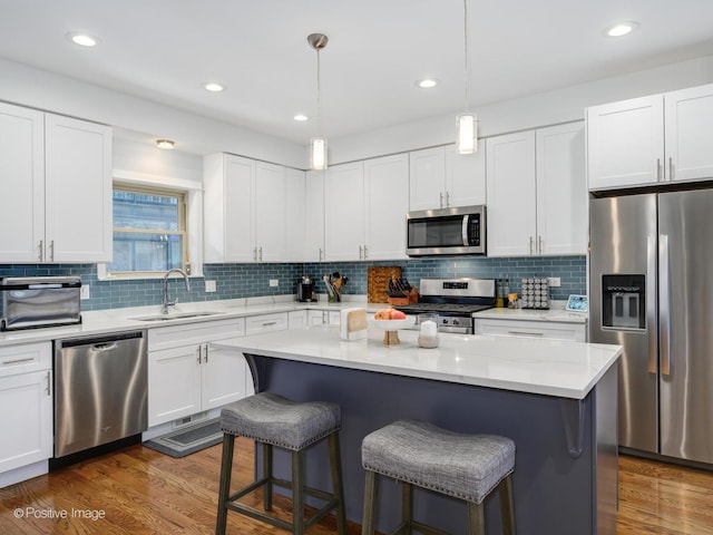
<path id="1" fill-rule="evenodd" d="M 667 93 L 666 169 L 670 181 L 713 176 L 713 84 Z"/>

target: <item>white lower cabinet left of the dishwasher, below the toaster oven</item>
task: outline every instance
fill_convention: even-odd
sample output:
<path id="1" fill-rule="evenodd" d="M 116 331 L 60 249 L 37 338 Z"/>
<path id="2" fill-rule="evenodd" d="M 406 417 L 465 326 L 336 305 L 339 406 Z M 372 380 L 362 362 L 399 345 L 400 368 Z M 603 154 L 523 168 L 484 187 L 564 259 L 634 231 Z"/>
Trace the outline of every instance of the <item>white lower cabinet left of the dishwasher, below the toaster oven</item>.
<path id="1" fill-rule="evenodd" d="M 0 348 L 0 487 L 47 471 L 22 473 L 52 456 L 51 342 Z"/>

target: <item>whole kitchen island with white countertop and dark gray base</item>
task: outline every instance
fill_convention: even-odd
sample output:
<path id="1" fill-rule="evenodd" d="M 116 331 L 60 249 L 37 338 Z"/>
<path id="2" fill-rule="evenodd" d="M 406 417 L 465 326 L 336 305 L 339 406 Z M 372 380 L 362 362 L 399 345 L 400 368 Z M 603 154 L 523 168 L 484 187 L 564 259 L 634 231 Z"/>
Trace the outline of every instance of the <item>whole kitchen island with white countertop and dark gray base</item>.
<path id="1" fill-rule="evenodd" d="M 257 334 L 216 342 L 247 358 L 256 391 L 342 408 L 346 514 L 361 522 L 361 440 L 399 418 L 418 418 L 461 432 L 510 437 L 519 534 L 614 534 L 617 494 L 616 389 L 622 348 L 547 340 L 441 334 L 421 349 L 402 331 L 384 347 L 383 332 L 341 341 L 333 327 Z M 307 455 L 307 481 L 329 488 L 320 446 Z M 256 467 L 260 463 L 256 463 Z M 289 475 L 287 456 L 275 471 Z M 400 510 L 394 485 L 382 484 L 380 531 Z M 465 506 L 417 493 L 417 517 L 465 533 Z M 486 504 L 488 534 L 500 533 L 498 500 Z"/>

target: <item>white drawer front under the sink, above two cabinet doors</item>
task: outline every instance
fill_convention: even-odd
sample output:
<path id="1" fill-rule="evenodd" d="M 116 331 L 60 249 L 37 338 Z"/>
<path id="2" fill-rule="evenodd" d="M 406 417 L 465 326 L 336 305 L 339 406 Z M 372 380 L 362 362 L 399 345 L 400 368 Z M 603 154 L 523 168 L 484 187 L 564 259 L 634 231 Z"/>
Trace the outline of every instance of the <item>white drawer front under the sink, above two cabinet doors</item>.
<path id="1" fill-rule="evenodd" d="M 245 334 L 245 319 L 201 321 L 180 325 L 159 327 L 148 331 L 148 350 L 178 348 Z"/>

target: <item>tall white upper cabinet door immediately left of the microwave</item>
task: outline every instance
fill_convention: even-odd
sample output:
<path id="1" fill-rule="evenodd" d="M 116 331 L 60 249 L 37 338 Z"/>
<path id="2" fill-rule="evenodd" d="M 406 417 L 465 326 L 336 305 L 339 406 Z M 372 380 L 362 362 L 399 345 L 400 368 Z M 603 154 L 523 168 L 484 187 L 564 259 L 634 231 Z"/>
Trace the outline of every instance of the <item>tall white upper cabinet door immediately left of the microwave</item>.
<path id="1" fill-rule="evenodd" d="M 367 241 L 364 260 L 406 259 L 409 157 L 397 154 L 364 162 Z"/>

